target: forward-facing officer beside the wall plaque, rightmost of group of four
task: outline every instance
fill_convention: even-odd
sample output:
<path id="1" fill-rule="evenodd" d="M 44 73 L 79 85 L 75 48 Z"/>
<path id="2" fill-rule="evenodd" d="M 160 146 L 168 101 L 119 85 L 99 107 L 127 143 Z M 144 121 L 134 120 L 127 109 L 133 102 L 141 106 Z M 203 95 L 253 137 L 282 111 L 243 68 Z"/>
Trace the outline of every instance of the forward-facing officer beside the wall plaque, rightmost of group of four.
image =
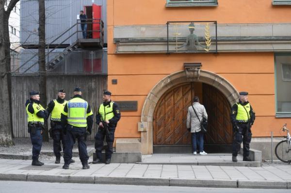
<path id="1" fill-rule="evenodd" d="M 114 132 L 118 120 L 120 119 L 120 109 L 116 103 L 111 101 L 111 92 L 103 92 L 103 104 L 99 106 L 96 123 L 99 125 L 98 132 L 95 136 L 95 149 L 97 159 L 92 163 L 101 163 L 101 151 L 103 148 L 104 137 L 106 136 L 107 148 L 105 150 L 105 163 L 111 162 L 113 154 Z"/>

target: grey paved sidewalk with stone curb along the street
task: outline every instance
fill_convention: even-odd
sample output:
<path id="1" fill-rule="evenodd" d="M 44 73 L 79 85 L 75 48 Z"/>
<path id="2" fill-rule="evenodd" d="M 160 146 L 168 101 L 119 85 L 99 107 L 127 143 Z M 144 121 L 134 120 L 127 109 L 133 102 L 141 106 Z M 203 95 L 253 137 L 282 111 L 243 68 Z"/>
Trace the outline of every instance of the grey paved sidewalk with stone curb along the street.
<path id="1" fill-rule="evenodd" d="M 31 160 L 0 159 L 1 180 L 130 184 L 158 186 L 196 186 L 217 188 L 291 189 L 291 165 L 263 164 L 262 167 L 165 165 L 111 163 L 90 164 L 82 170 L 80 160 L 62 169 L 54 158 L 44 166 L 32 166 Z M 92 161 L 92 157 L 89 159 Z"/>

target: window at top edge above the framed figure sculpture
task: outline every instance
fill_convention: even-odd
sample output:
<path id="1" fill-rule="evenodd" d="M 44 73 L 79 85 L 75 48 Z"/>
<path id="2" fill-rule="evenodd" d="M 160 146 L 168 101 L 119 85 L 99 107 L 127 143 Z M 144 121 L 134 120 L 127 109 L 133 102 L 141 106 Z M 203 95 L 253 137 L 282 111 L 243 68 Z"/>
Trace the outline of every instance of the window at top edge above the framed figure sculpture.
<path id="1" fill-rule="evenodd" d="M 166 7 L 217 6 L 217 0 L 167 0 Z"/>

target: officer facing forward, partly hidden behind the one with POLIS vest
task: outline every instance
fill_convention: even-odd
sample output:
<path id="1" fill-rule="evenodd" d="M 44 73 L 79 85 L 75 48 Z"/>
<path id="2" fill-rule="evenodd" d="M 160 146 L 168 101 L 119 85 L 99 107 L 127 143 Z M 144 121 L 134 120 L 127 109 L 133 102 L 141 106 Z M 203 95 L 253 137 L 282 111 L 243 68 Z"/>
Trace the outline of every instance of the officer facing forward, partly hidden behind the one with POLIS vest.
<path id="1" fill-rule="evenodd" d="M 65 149 L 65 134 L 63 134 L 62 124 L 61 124 L 61 113 L 64 110 L 65 104 L 65 90 L 61 89 L 58 92 L 58 98 L 49 102 L 47 111 L 50 114 L 50 127 L 49 133 L 53 139 L 53 153 L 56 156 L 55 163 L 61 162 L 61 141 L 63 144 L 63 150 Z M 74 163 L 73 159 L 70 163 Z"/>

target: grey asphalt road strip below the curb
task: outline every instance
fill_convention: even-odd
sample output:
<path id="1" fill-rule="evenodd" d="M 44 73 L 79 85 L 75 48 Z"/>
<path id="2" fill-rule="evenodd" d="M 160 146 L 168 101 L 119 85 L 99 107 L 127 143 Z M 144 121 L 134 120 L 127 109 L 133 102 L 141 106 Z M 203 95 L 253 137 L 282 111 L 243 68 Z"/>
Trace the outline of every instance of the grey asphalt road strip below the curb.
<path id="1" fill-rule="evenodd" d="M 0 193 L 290 193 L 290 190 L 0 181 Z"/>

